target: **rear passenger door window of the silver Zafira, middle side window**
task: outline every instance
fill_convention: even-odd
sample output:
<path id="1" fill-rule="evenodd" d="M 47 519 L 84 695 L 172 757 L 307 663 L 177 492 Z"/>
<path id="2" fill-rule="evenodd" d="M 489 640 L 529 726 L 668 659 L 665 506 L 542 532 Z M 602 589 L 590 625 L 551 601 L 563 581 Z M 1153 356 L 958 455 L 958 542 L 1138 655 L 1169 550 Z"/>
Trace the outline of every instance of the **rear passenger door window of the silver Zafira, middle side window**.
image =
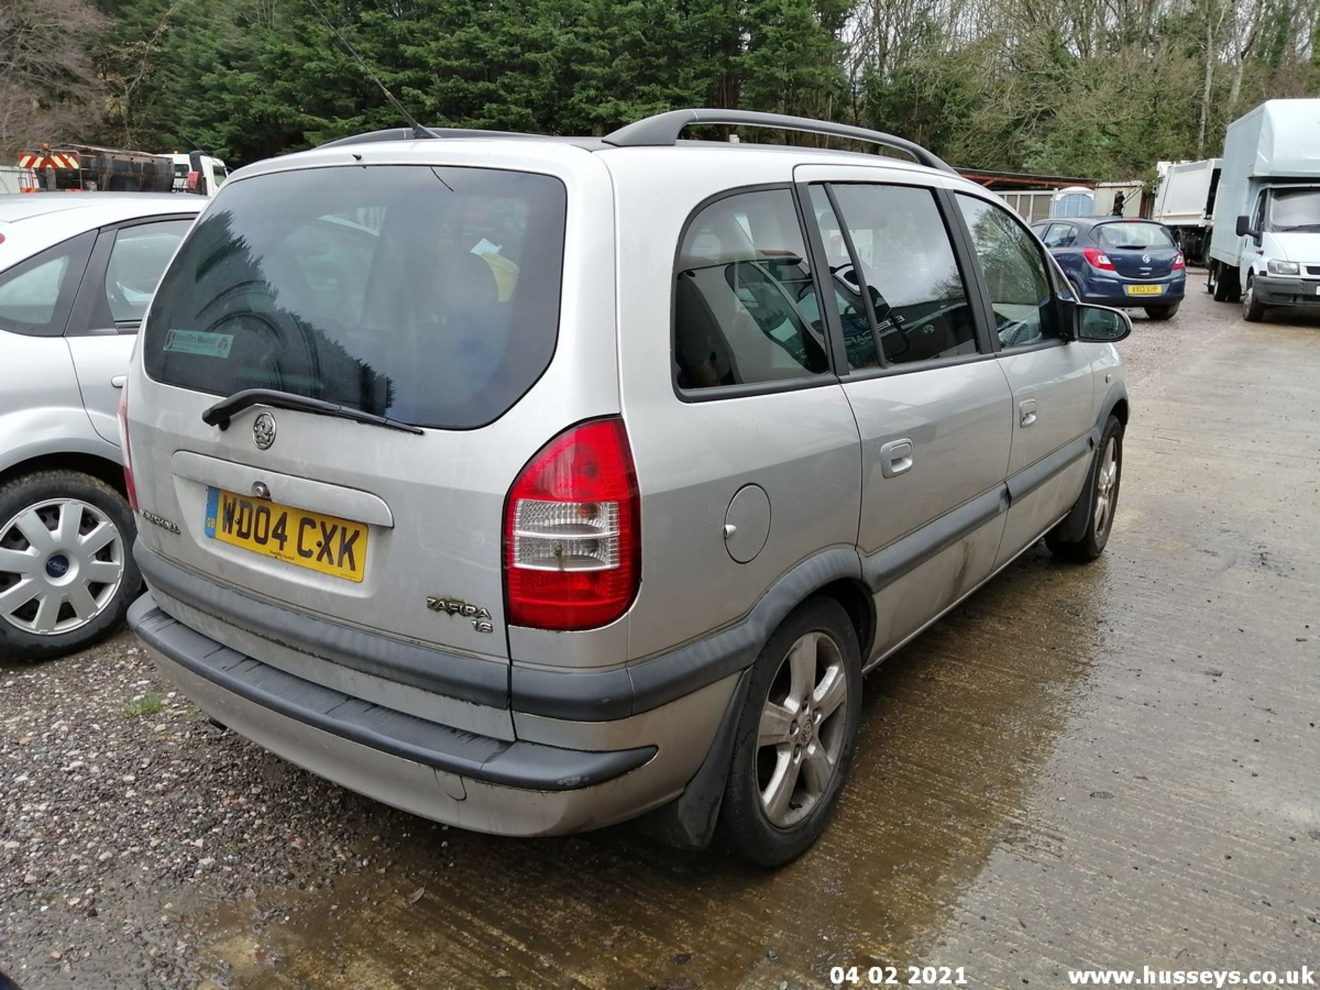
<path id="1" fill-rule="evenodd" d="M 975 321 L 935 194 L 862 183 L 830 191 L 843 220 L 840 234 L 847 235 L 840 238 L 845 247 L 840 256 L 832 232 L 822 230 L 836 296 L 857 297 L 865 286 L 884 363 L 975 354 Z M 849 315 L 842 310 L 841 315 L 846 337 Z M 850 363 L 851 358 L 849 347 Z"/>

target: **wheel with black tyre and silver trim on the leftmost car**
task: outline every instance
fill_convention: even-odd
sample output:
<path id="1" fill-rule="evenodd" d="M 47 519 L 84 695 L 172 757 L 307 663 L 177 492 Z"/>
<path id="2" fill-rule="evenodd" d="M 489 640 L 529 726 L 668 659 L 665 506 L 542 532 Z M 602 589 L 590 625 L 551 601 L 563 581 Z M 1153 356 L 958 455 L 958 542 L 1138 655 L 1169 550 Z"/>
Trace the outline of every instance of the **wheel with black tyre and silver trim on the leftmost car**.
<path id="1" fill-rule="evenodd" d="M 136 532 L 124 496 L 92 475 L 0 486 L 0 655 L 45 660 L 115 628 L 143 586 Z"/>

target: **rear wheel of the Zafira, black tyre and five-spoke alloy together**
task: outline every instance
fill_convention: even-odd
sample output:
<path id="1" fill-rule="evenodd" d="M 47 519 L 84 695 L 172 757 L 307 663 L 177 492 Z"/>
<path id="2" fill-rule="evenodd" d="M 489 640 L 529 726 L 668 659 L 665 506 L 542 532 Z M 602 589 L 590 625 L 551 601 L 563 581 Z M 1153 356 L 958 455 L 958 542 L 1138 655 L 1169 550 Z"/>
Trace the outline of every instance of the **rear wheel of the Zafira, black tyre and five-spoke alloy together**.
<path id="1" fill-rule="evenodd" d="M 833 598 L 812 598 L 756 657 L 734 737 L 719 829 L 739 857 L 781 866 L 821 834 L 861 723 L 857 631 Z"/>

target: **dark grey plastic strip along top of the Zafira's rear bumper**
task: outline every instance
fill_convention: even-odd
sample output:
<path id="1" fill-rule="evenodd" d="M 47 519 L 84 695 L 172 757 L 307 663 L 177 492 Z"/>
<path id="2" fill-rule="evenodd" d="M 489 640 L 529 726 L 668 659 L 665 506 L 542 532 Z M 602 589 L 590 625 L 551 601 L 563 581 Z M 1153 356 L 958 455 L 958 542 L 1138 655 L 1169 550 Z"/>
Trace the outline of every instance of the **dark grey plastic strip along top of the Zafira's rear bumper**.
<path id="1" fill-rule="evenodd" d="M 145 594 L 128 624 L 147 645 L 180 667 L 263 708 L 401 759 L 525 791 L 577 791 L 647 763 L 655 746 L 585 752 L 463 733 L 330 690 L 268 667 L 172 619 Z"/>

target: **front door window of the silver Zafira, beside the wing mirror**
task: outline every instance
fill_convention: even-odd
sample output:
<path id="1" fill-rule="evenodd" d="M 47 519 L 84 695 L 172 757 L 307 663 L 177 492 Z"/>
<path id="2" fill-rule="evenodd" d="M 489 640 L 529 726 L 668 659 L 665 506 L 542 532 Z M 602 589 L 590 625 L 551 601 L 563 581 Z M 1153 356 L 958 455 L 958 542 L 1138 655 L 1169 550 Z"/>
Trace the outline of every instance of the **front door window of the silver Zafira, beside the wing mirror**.
<path id="1" fill-rule="evenodd" d="M 990 293 L 995 331 L 1005 348 L 1057 338 L 1049 276 L 1040 247 L 1006 211 L 985 199 L 958 194 Z"/>

